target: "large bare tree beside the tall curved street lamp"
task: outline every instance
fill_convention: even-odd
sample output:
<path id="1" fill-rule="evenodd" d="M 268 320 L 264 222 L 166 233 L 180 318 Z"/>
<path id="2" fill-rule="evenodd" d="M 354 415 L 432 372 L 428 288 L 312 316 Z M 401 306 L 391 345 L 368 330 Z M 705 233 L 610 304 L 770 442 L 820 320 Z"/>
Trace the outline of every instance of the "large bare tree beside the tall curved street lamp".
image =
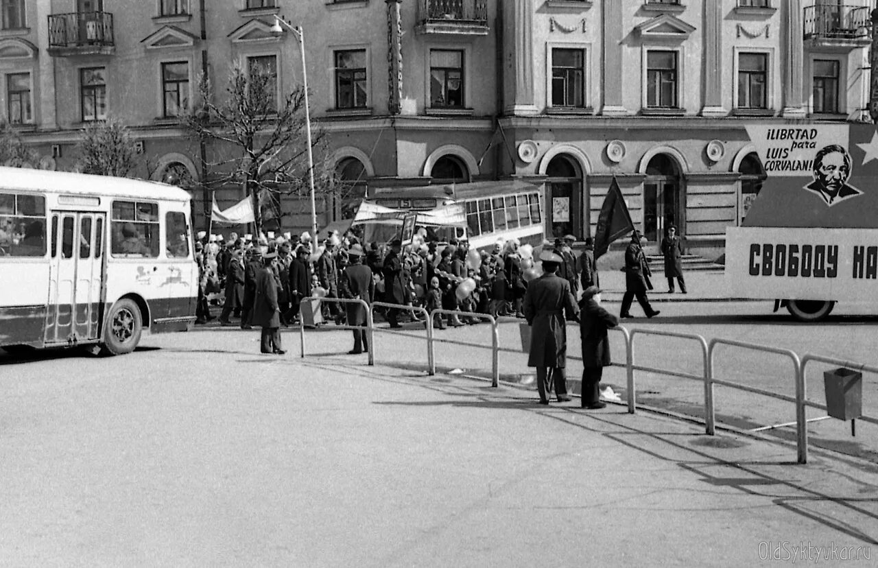
<path id="1" fill-rule="evenodd" d="M 284 196 L 304 196 L 308 183 L 305 91 L 301 88 L 277 99 L 277 75 L 271 68 L 235 65 L 222 97 L 212 84 L 199 79 L 199 106 L 183 118 L 184 126 L 210 144 L 217 158 L 211 162 L 211 183 L 240 183 L 254 200 L 256 233 L 262 231 L 263 215 L 281 216 Z M 313 133 L 313 148 L 326 155 L 325 133 Z M 316 162 L 316 161 L 315 161 Z M 316 162 L 318 191 L 332 191 L 325 162 Z M 320 183 L 317 183 L 317 180 Z"/>

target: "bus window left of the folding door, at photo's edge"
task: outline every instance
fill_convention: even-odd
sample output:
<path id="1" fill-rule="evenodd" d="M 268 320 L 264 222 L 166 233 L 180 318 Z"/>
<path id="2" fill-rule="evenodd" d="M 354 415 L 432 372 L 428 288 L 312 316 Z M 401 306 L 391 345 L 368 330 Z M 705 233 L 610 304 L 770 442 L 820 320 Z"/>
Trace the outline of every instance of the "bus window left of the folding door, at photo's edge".
<path id="1" fill-rule="evenodd" d="M 0 193 L 0 258 L 46 255 L 46 198 Z"/>

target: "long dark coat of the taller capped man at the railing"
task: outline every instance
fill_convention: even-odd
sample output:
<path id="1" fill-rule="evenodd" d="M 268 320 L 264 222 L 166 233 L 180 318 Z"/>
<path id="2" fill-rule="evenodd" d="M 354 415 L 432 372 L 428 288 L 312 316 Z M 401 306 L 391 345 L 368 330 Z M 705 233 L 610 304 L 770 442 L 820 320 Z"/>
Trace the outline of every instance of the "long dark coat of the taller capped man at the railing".
<path id="1" fill-rule="evenodd" d="M 564 368 L 567 356 L 567 317 L 579 311 L 570 283 L 555 274 L 543 274 L 528 285 L 522 305 L 530 332 L 529 367 Z"/>

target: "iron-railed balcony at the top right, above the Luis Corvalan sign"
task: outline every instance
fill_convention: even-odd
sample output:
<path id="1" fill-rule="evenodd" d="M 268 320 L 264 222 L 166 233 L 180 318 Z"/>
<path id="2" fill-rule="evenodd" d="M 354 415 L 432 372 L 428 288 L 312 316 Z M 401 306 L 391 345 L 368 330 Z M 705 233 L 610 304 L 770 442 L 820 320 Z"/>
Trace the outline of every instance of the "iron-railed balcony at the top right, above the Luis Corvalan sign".
<path id="1" fill-rule="evenodd" d="M 864 5 L 816 4 L 804 9 L 805 41 L 814 47 L 866 47 L 872 9 Z"/>

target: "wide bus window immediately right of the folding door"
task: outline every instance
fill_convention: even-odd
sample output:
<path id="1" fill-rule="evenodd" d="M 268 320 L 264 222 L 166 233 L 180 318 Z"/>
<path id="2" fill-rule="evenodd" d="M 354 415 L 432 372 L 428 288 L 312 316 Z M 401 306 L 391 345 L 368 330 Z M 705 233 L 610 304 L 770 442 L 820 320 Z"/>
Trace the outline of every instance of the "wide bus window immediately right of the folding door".
<path id="1" fill-rule="evenodd" d="M 159 206 L 142 201 L 113 201 L 112 255 L 159 255 Z"/>

